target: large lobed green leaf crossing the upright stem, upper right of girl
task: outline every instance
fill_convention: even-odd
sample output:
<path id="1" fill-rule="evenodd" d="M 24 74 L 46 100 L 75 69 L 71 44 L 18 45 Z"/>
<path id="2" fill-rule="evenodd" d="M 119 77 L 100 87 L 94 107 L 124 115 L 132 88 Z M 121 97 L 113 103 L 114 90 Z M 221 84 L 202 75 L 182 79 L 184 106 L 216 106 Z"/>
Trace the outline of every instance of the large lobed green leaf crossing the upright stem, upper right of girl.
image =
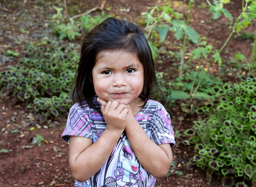
<path id="1" fill-rule="evenodd" d="M 172 27 L 170 27 L 170 30 L 174 31 L 174 36 L 177 40 L 181 39 L 182 36 L 186 34 L 193 43 L 198 44 L 199 34 L 189 27 L 189 25 L 186 25 L 184 20 L 173 20 L 171 23 Z"/>

